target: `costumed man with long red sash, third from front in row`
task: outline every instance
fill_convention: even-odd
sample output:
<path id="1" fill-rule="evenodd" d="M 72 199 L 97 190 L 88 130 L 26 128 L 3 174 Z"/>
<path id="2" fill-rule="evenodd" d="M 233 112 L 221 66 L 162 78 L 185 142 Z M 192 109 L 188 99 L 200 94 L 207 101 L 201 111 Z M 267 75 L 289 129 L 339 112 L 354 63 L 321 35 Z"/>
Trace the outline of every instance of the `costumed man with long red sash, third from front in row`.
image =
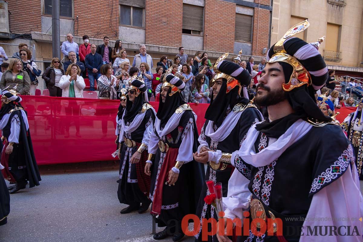
<path id="1" fill-rule="evenodd" d="M 196 114 L 180 95 L 185 83 L 171 71 L 172 67 L 162 76 L 145 173 L 150 176 L 152 171 L 151 214 L 159 227 L 166 226 L 154 239 L 172 235 L 173 241 L 179 241 L 184 236 L 181 220 L 196 212 L 205 172 L 192 156 L 197 149 Z"/>

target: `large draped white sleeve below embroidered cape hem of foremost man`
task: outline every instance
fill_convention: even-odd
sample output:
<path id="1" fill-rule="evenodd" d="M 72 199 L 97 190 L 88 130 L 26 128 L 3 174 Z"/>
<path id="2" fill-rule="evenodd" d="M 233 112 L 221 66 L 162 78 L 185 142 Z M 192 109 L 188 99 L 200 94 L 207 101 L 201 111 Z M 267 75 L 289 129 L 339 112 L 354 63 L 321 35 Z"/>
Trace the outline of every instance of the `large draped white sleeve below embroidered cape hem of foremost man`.
<path id="1" fill-rule="evenodd" d="M 362 241 L 363 223 L 359 219 L 363 216 L 363 198 L 359 189 L 358 172 L 355 165 L 352 167 L 353 172 L 348 167 L 342 176 L 313 195 L 300 242 Z M 311 231 L 321 226 L 340 227 L 341 235 L 348 235 L 349 229 L 353 236 L 340 236 L 339 233 L 337 236 L 329 236 L 329 233 L 327 236 L 311 236 Z M 356 233 L 352 233 L 354 229 Z"/>

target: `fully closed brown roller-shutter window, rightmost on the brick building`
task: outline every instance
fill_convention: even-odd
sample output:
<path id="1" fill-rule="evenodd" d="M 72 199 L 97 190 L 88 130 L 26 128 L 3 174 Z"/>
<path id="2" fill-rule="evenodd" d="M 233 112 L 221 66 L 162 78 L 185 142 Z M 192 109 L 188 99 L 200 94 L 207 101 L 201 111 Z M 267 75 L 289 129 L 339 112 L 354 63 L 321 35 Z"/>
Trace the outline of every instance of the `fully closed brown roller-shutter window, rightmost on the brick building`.
<path id="1" fill-rule="evenodd" d="M 252 16 L 236 13 L 234 40 L 252 42 Z"/>

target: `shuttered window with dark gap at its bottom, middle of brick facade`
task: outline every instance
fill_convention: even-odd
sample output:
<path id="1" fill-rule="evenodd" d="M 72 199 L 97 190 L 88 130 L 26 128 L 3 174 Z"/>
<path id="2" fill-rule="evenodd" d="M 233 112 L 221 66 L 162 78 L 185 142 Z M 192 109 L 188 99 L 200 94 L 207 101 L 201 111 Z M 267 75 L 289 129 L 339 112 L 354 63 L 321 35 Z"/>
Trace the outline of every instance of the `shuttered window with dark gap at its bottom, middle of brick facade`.
<path id="1" fill-rule="evenodd" d="M 183 34 L 203 34 L 204 7 L 183 4 Z"/>

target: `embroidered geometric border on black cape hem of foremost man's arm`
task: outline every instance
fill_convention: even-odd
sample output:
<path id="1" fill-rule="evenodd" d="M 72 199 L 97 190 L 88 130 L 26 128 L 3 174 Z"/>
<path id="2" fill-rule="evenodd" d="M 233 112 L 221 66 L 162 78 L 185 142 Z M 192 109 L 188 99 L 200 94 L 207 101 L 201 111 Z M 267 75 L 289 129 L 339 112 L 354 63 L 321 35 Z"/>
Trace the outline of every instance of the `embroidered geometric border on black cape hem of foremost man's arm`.
<path id="1" fill-rule="evenodd" d="M 342 174 L 349 166 L 349 163 L 354 163 L 354 151 L 352 145 L 348 145 L 348 148 L 343 151 L 343 153 L 338 157 L 338 160 L 330 165 L 325 171 L 321 173 L 318 177 L 315 177 L 313 184 L 311 184 L 310 193 L 316 192 L 324 184 L 337 179 L 337 177 Z"/>

